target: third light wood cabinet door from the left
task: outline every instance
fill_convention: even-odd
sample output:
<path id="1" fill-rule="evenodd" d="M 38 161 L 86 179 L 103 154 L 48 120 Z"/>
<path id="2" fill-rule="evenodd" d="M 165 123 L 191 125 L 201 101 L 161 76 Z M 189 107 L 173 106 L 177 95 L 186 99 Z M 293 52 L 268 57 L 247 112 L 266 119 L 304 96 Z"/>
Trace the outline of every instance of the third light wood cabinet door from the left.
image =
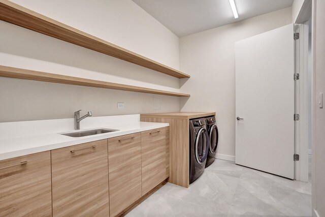
<path id="1" fill-rule="evenodd" d="M 108 139 L 110 214 L 115 216 L 142 196 L 141 133 Z"/>

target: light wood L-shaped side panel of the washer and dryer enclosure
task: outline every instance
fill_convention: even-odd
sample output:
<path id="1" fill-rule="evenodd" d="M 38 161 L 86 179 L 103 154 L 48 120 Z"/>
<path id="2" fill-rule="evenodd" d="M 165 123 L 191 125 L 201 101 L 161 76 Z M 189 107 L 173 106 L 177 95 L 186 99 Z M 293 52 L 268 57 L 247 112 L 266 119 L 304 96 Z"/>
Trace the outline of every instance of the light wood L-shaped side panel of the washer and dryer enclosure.
<path id="1" fill-rule="evenodd" d="M 169 182 L 189 187 L 189 120 L 140 116 L 141 121 L 169 123 L 170 177 Z"/>

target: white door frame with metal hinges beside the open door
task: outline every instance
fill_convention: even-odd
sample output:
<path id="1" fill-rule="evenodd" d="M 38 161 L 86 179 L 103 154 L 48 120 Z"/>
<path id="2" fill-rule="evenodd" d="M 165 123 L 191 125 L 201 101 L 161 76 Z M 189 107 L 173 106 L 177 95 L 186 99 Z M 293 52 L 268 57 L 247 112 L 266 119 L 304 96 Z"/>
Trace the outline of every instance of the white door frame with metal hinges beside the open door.
<path id="1" fill-rule="evenodd" d="M 299 40 L 295 43 L 295 73 L 300 74 L 296 86 L 296 112 L 300 114 L 300 120 L 296 122 L 295 153 L 299 154 L 299 161 L 295 162 L 295 178 L 299 181 L 308 181 L 308 107 L 311 102 L 311 126 L 314 122 L 314 72 L 313 72 L 313 45 L 311 45 L 311 98 L 308 99 L 308 20 L 312 19 L 313 1 L 305 0 L 296 20 L 294 20 L 295 33 L 299 33 Z M 313 22 L 312 22 L 313 25 Z M 313 30 L 313 29 L 312 29 Z M 312 36 L 313 37 L 313 36 Z M 313 44 L 313 39 L 312 39 Z M 311 127 L 311 149 L 313 150 L 313 127 Z"/>

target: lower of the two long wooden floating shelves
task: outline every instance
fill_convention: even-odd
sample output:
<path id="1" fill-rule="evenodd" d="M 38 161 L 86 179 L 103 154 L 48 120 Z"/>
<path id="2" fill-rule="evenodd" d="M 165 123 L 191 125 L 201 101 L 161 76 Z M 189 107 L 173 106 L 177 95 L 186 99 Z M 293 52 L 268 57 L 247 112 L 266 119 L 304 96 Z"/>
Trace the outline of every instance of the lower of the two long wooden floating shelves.
<path id="1" fill-rule="evenodd" d="M 158 94 L 173 97 L 190 97 L 189 94 L 181 94 L 179 92 L 171 92 L 159 89 L 151 89 L 146 87 L 138 87 L 126 84 L 111 83 L 106 81 L 91 80 L 86 78 L 78 78 L 67 75 L 58 75 L 46 72 L 38 72 L 26 69 L 19 69 L 7 66 L 0 66 L 0 76 L 10 78 L 21 78 L 27 80 L 47 81 L 53 83 L 73 84 L 79 86 L 100 87 L 107 89 L 118 89 L 134 92 L 144 92 L 146 94 Z"/>

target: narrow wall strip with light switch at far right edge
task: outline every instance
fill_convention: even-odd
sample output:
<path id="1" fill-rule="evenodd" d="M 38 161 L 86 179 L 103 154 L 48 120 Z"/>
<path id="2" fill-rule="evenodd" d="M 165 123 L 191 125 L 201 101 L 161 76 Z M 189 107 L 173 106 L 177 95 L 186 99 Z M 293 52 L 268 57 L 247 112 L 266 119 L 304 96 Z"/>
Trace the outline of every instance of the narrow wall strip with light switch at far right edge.
<path id="1" fill-rule="evenodd" d="M 314 144 L 313 144 L 313 208 L 319 216 L 325 216 L 325 108 L 318 106 L 318 94 L 325 94 L 325 2 L 314 0 L 313 10 L 313 56 L 314 56 Z M 315 214 L 315 213 L 313 213 Z"/>

